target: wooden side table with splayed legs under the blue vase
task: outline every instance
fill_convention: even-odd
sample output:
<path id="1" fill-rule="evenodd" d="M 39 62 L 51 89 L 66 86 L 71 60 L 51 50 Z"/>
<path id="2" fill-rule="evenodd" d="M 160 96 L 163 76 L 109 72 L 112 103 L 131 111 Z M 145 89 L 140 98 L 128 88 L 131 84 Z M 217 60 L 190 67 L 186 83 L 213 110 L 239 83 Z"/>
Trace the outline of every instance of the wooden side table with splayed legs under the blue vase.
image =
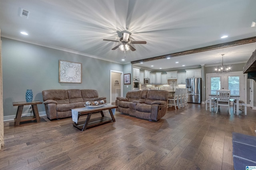
<path id="1" fill-rule="evenodd" d="M 12 106 L 18 106 L 16 117 L 14 118 L 14 126 L 19 126 L 20 122 L 22 121 L 30 121 L 30 120 L 36 120 L 36 122 L 40 122 L 40 117 L 38 114 L 37 104 L 42 104 L 42 102 L 39 101 L 32 101 L 32 102 L 13 102 Z M 31 105 L 34 116 L 25 116 L 21 117 L 22 110 L 24 105 Z"/>

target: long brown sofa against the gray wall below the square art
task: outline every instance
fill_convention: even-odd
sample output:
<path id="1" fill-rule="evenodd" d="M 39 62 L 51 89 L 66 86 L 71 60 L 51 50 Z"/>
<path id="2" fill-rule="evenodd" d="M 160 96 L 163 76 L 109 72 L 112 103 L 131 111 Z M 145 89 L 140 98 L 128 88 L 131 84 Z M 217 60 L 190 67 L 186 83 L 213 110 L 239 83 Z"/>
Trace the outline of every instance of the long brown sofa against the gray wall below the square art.
<path id="1" fill-rule="evenodd" d="M 106 97 L 99 97 L 97 90 L 43 90 L 42 95 L 46 115 L 50 120 L 71 117 L 70 109 L 84 107 L 87 101 L 106 102 Z"/>

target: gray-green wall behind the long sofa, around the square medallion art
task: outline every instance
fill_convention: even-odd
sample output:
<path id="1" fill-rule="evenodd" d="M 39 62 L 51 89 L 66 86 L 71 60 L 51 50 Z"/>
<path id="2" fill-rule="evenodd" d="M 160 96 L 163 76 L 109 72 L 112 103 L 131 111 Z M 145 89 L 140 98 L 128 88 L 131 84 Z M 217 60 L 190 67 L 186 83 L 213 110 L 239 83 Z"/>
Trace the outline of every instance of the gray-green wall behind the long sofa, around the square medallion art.
<path id="1" fill-rule="evenodd" d="M 109 103 L 110 70 L 123 71 L 123 64 L 4 37 L 1 39 L 4 116 L 16 115 L 17 106 L 12 106 L 12 102 L 26 101 L 27 89 L 32 89 L 33 100 L 39 101 L 43 101 L 42 90 L 95 89 Z M 59 60 L 82 63 L 82 84 L 58 82 Z M 126 69 L 126 72 L 130 73 L 131 69 Z M 45 111 L 44 104 L 38 105 L 38 111 Z M 24 106 L 23 113 L 28 113 L 28 106 Z"/>

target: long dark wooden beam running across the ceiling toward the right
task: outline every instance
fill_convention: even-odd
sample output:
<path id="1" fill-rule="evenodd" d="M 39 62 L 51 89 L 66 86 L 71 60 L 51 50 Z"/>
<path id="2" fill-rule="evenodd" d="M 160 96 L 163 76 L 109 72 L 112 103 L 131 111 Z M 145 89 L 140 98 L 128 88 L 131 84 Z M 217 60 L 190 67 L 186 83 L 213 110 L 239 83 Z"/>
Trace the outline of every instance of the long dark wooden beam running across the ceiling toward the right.
<path id="1" fill-rule="evenodd" d="M 250 37 L 250 38 L 246 38 L 246 39 L 230 41 L 230 42 L 227 42 L 227 43 L 221 43 L 221 44 L 216 44 L 216 45 L 210 45 L 210 46 L 207 46 L 207 47 L 201 47 L 201 48 L 198 48 L 198 49 L 192 49 L 192 50 L 182 51 L 182 52 L 178 52 L 178 53 L 172 53 L 172 54 L 167 54 L 167 55 L 161 55 L 161 56 L 158 56 L 158 57 L 151 57 L 151 58 L 148 58 L 148 59 L 132 61 L 131 63 L 136 64 L 136 63 L 140 63 L 140 62 L 166 59 L 167 57 L 177 57 L 177 56 L 181 56 L 181 55 L 200 53 L 200 52 L 204 52 L 204 51 L 216 50 L 216 49 L 232 47 L 232 46 L 236 46 L 236 45 L 243 45 L 243 44 L 248 44 L 248 43 L 254 43 L 254 42 L 256 42 L 256 37 Z"/>

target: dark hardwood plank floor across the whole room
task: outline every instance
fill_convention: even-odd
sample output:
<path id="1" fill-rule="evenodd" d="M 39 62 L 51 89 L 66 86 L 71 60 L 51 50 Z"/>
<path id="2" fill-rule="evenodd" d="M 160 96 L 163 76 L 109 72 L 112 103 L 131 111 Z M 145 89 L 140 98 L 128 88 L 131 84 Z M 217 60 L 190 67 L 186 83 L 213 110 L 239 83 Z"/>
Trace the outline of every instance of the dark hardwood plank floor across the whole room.
<path id="1" fill-rule="evenodd" d="M 109 116 L 109 114 L 105 115 Z M 100 116 L 100 113 L 98 114 Z M 80 117 L 85 120 L 86 116 Z M 256 136 L 256 111 L 218 114 L 205 105 L 168 108 L 157 122 L 115 113 L 110 122 L 80 131 L 72 118 L 4 122 L 1 170 L 232 170 L 232 132 Z"/>

